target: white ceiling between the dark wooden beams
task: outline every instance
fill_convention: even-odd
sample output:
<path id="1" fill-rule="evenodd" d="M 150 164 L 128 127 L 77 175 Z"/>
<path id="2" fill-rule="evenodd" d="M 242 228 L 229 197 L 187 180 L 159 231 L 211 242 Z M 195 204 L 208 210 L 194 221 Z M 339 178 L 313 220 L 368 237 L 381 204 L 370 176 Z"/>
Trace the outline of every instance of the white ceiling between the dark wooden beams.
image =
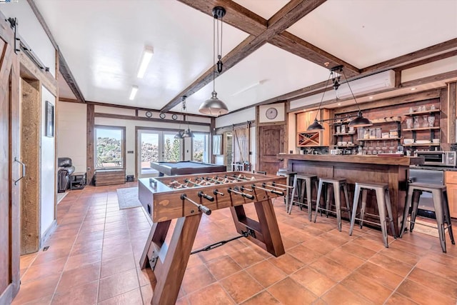
<path id="1" fill-rule="evenodd" d="M 211 69 L 213 18 L 171 0 L 34 0 L 87 101 L 161 109 Z M 269 19 L 288 1 L 236 0 Z M 328 0 L 287 31 L 358 69 L 457 38 L 455 0 Z M 223 56 L 248 34 L 224 24 Z M 154 56 L 136 71 L 144 46 Z M 265 44 L 216 79 L 233 111 L 326 81 L 328 70 Z M 129 101 L 131 86 L 139 86 Z M 64 86 L 64 85 L 62 85 Z M 189 113 L 212 84 L 187 99 Z M 73 98 L 66 89 L 61 96 Z M 68 96 L 66 96 L 68 95 Z M 173 111 L 181 111 L 181 105 Z"/>

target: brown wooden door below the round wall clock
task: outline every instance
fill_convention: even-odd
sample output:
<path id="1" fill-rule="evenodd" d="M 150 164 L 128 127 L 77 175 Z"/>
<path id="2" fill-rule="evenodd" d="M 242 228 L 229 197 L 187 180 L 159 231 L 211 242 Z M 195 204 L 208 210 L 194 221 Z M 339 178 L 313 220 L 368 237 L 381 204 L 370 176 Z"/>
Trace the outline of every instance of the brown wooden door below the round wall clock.
<path id="1" fill-rule="evenodd" d="M 285 125 L 258 127 L 258 171 L 276 174 L 282 161 L 277 154 L 284 152 L 286 139 Z"/>

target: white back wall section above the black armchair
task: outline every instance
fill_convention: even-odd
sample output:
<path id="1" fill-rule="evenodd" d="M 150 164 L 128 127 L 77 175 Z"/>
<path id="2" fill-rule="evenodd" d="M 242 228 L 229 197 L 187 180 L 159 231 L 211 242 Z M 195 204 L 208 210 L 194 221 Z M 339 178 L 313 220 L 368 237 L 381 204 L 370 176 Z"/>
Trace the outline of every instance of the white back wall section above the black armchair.
<path id="1" fill-rule="evenodd" d="M 57 157 L 69 157 L 75 171 L 86 171 L 86 104 L 59 101 L 56 107 Z"/>

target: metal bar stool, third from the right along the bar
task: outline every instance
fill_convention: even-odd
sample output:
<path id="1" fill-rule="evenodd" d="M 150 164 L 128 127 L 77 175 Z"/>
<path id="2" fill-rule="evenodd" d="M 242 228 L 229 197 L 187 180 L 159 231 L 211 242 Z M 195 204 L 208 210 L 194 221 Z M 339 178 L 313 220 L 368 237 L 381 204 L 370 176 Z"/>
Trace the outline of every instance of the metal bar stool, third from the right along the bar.
<path id="1" fill-rule="evenodd" d="M 335 210 L 330 209 L 330 194 L 331 189 L 328 186 L 333 186 L 333 197 L 335 199 Z M 322 189 L 326 191 L 326 209 L 321 208 L 321 194 Z M 346 200 L 346 209 L 348 211 L 349 217 L 351 217 L 351 208 L 349 207 L 349 196 L 348 196 L 348 187 L 346 185 L 346 179 L 340 178 L 319 178 L 319 185 L 317 190 L 317 199 L 316 199 L 316 215 L 314 215 L 314 222 L 316 222 L 318 211 L 326 211 L 326 216 L 328 212 L 336 213 L 336 220 L 338 221 L 338 231 L 341 232 L 341 189 L 344 191 L 344 199 Z"/>

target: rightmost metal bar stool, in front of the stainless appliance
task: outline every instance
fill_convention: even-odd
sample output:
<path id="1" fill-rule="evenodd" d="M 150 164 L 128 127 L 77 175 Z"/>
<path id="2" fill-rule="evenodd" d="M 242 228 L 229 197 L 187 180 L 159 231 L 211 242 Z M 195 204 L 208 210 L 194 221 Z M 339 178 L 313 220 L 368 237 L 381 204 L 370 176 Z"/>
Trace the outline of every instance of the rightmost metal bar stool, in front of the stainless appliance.
<path id="1" fill-rule="evenodd" d="M 448 204 L 448 192 L 446 190 L 446 186 L 443 185 L 435 185 L 435 184 L 421 184 L 421 183 L 411 183 L 408 185 L 408 195 L 406 196 L 406 204 L 405 204 L 405 211 L 403 213 L 403 221 L 401 224 L 401 231 L 400 237 L 403 236 L 403 231 L 406 229 L 406 222 L 408 222 L 408 211 L 409 206 L 412 204 L 412 211 L 411 211 L 411 221 L 409 221 L 410 229 L 409 231 L 413 231 L 414 222 L 416 221 L 417 209 L 418 209 L 418 201 L 423 191 L 429 192 L 432 194 L 433 199 L 433 208 L 435 211 L 436 216 L 436 224 L 438 225 L 438 236 L 441 243 L 441 249 L 443 252 L 446 253 L 446 236 L 445 232 L 448 229 L 449 237 L 451 238 L 452 244 L 456 244 L 454 241 L 454 236 L 452 232 L 452 224 L 451 224 L 451 215 L 449 213 L 449 204 Z M 413 194 L 418 192 L 418 196 L 415 196 L 413 200 Z M 428 209 L 428 211 L 432 211 L 432 209 Z M 444 225 L 446 224 L 446 226 Z M 435 226 L 431 226 L 432 228 L 436 228 Z"/>

